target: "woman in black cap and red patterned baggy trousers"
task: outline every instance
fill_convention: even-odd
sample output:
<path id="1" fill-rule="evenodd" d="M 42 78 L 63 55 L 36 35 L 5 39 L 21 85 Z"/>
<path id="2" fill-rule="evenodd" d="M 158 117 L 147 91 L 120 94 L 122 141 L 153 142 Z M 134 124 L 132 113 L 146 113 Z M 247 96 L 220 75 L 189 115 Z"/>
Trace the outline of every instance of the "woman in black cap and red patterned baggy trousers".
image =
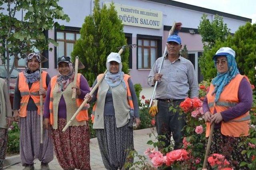
<path id="1" fill-rule="evenodd" d="M 65 132 L 62 129 L 90 92 L 87 80 L 78 74 L 76 100 L 72 99 L 74 69 L 70 57 L 58 59 L 57 76 L 52 77 L 44 102 L 44 126 L 52 129 L 54 151 L 65 170 L 90 170 L 90 132 L 87 107 L 84 107 Z"/>

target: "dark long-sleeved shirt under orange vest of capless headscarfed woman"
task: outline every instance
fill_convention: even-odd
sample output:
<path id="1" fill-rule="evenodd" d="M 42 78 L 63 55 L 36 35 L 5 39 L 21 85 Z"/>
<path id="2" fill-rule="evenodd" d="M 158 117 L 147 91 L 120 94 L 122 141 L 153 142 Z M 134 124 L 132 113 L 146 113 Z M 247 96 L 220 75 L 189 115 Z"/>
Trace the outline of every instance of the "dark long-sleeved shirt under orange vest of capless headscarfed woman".
<path id="1" fill-rule="evenodd" d="M 46 75 L 46 86 L 48 87 L 49 82 L 51 81 L 51 77 L 49 74 Z M 28 88 L 30 89 L 32 87 L 33 83 L 28 84 Z M 14 99 L 13 99 L 13 109 L 18 110 L 20 109 L 20 100 L 21 100 L 21 95 L 20 95 L 20 90 L 19 90 L 19 76 L 17 78 L 17 83 L 15 86 L 15 92 L 14 92 Z M 38 107 L 36 106 L 34 100 L 30 97 L 28 100 L 28 106 L 27 110 L 28 111 L 35 111 L 37 110 Z"/>

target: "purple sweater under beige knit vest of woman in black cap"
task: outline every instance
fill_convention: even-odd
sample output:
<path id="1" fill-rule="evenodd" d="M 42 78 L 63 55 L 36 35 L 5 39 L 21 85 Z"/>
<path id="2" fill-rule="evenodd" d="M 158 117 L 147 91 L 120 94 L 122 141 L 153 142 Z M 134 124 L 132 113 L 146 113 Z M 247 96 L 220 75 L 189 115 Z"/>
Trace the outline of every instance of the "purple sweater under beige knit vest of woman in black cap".
<path id="1" fill-rule="evenodd" d="M 90 92 L 89 84 L 87 80 L 84 78 L 84 76 L 80 76 L 80 90 L 81 90 L 81 94 L 80 96 L 78 96 L 78 98 L 80 99 L 84 99 L 84 96 Z M 44 101 L 44 118 L 50 117 L 50 110 L 49 110 L 50 92 L 51 92 L 51 84 L 49 83 L 47 93 L 46 93 L 46 98 Z M 66 119 L 67 117 L 66 112 L 67 112 L 66 103 L 62 95 L 60 98 L 59 107 L 58 107 L 58 118 Z"/>

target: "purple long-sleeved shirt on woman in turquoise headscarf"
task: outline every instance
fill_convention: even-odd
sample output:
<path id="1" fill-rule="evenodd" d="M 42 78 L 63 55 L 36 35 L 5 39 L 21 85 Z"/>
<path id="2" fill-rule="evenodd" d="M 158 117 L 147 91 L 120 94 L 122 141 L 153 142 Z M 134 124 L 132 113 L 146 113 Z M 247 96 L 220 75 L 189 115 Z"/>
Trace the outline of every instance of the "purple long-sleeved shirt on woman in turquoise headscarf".
<path id="1" fill-rule="evenodd" d="M 236 106 L 230 107 L 229 109 L 220 112 L 224 122 L 230 121 L 231 119 L 243 115 L 252 107 L 252 89 L 246 78 L 243 78 L 240 82 L 238 88 L 238 100 L 239 102 L 236 104 Z M 208 100 L 205 97 L 203 102 L 203 112 L 206 113 L 206 111 L 210 111 L 210 109 L 208 107 Z M 216 112 L 216 109 L 214 109 L 214 114 Z M 220 128 L 220 125 L 221 122 L 216 124 L 214 127 Z"/>

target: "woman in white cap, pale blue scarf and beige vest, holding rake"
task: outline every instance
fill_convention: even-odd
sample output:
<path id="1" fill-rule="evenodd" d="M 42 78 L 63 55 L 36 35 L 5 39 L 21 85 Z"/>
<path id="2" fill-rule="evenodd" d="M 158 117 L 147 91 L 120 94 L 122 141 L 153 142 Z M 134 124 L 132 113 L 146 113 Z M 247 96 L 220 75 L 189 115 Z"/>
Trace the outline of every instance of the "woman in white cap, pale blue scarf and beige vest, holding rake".
<path id="1" fill-rule="evenodd" d="M 122 169 L 128 160 L 129 150 L 133 145 L 133 121 L 138 126 L 138 99 L 134 85 L 128 74 L 122 72 L 121 57 L 110 53 L 106 61 L 108 72 L 92 96 L 86 94 L 88 102 L 95 102 L 93 107 L 96 136 L 104 166 L 108 170 Z M 93 87 L 100 74 L 94 81 Z"/>

